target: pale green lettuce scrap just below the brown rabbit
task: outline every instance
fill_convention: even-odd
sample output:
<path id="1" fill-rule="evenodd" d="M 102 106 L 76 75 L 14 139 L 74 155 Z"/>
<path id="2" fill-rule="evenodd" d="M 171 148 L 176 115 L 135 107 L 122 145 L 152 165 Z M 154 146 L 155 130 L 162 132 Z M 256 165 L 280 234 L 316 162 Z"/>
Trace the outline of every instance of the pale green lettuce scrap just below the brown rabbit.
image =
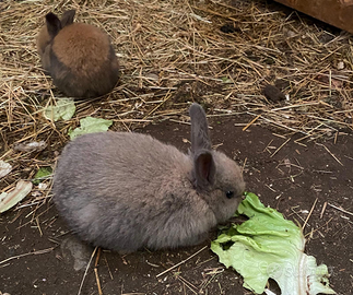
<path id="1" fill-rule="evenodd" d="M 44 117 L 48 120 L 58 121 L 62 120 L 70 120 L 77 110 L 74 106 L 74 102 L 71 98 L 60 98 L 57 102 L 56 106 L 48 106 L 44 110 Z"/>

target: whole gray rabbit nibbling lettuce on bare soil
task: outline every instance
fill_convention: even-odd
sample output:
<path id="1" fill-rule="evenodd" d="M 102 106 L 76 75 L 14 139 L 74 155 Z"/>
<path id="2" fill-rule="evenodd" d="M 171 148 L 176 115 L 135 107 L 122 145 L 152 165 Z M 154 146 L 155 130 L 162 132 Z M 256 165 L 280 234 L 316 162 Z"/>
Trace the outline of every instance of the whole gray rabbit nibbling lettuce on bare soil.
<path id="1" fill-rule="evenodd" d="M 237 209 L 239 166 L 211 149 L 201 106 L 192 104 L 191 150 L 140 133 L 102 132 L 63 150 L 54 201 L 81 239 L 131 252 L 197 245 Z"/>

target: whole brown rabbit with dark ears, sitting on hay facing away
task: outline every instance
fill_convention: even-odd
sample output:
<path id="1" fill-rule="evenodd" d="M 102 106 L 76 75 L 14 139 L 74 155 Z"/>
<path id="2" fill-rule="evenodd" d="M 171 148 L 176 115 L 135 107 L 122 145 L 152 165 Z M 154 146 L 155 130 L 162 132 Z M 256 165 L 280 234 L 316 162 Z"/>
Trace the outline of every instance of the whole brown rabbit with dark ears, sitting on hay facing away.
<path id="1" fill-rule="evenodd" d="M 54 84 L 72 97 L 96 97 L 110 92 L 119 79 L 119 64 L 109 36 L 99 28 L 73 23 L 75 11 L 61 20 L 46 15 L 37 37 L 43 68 Z"/>

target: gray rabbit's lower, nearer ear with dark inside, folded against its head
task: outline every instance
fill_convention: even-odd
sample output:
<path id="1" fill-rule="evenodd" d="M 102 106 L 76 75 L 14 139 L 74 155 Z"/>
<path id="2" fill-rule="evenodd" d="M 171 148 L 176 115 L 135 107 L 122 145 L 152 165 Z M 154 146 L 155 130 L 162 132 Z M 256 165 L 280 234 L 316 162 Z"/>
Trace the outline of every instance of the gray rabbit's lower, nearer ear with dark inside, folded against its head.
<path id="1" fill-rule="evenodd" d="M 215 164 L 210 151 L 200 151 L 195 155 L 195 177 L 198 188 L 205 189 L 214 185 Z"/>

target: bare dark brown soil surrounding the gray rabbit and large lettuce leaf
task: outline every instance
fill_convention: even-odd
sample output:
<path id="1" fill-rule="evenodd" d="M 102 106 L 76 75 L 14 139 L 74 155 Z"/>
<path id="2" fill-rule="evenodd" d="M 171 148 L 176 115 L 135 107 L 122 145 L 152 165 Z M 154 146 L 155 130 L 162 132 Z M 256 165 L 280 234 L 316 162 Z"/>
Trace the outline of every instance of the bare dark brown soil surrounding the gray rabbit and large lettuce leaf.
<path id="1" fill-rule="evenodd" d="M 306 252 L 315 256 L 318 264 L 328 266 L 330 284 L 338 294 L 352 294 L 352 215 L 331 206 L 353 209 L 352 134 L 340 133 L 307 146 L 292 138 L 282 146 L 286 139 L 278 130 L 274 133 L 251 126 L 242 131 L 238 122 L 236 117 L 211 119 L 213 144 L 244 165 L 247 190 L 257 193 L 264 204 L 301 224 L 313 209 L 305 227 Z M 140 131 L 183 151 L 189 146 L 188 125 L 164 121 Z M 68 227 L 51 202 L 36 212 L 35 223 L 28 223 L 30 212 L 22 209 L 0 216 L 0 291 L 11 295 L 78 294 L 84 268 L 75 271 L 75 259 L 62 247 L 72 240 Z M 210 240 L 215 236 L 216 229 Z M 89 268 L 81 294 L 98 294 L 96 278 L 105 295 L 250 294 L 243 288 L 239 274 L 217 262 L 209 249 L 210 240 L 198 247 L 126 256 L 102 250 L 99 260 L 94 259 Z M 85 250 L 90 257 L 93 249 Z"/>

